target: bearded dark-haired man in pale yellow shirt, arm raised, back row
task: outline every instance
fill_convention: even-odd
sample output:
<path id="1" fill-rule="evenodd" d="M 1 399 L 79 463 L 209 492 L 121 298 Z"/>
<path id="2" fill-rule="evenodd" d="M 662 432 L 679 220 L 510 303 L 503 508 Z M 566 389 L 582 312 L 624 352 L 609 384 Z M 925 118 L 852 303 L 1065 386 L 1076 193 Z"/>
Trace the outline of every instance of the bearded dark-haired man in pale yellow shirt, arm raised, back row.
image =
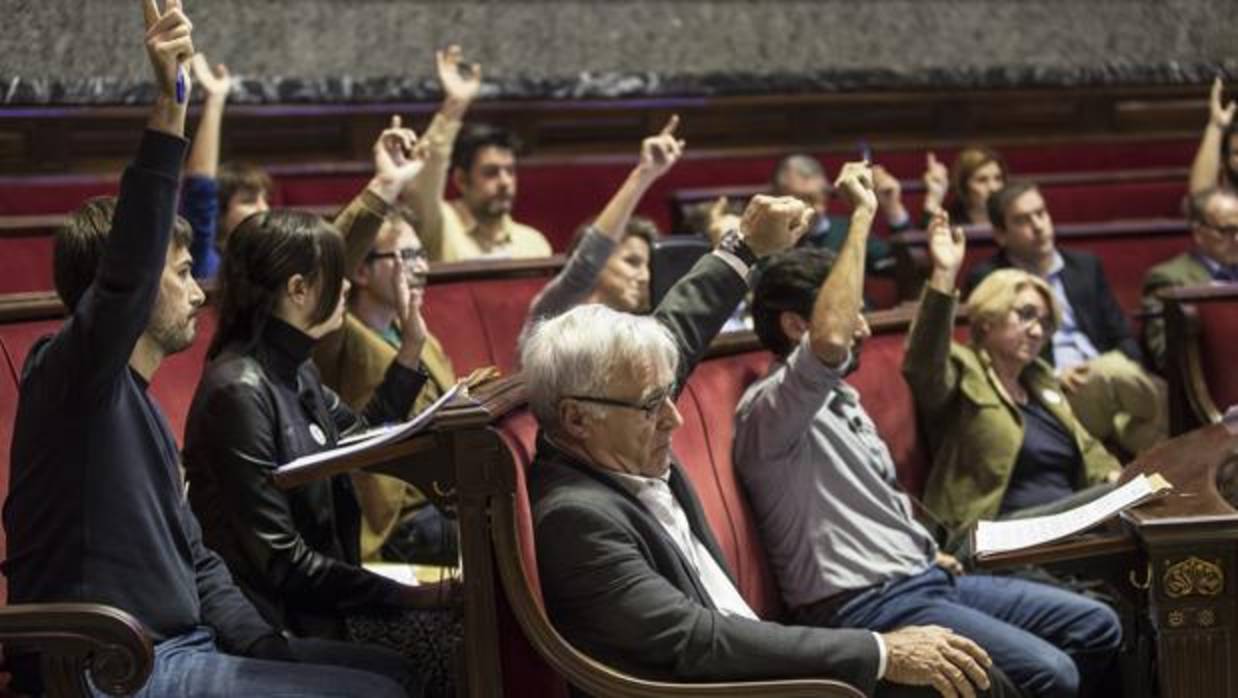
<path id="1" fill-rule="evenodd" d="M 500 129 L 477 125 L 457 140 L 461 119 L 482 87 L 480 68 L 463 63 L 458 46 L 436 57 L 443 105 L 423 136 L 426 170 L 405 191 L 430 260 L 550 256 L 545 235 L 511 219 L 515 139 Z M 453 202 L 444 199 L 448 174 L 461 193 Z"/>

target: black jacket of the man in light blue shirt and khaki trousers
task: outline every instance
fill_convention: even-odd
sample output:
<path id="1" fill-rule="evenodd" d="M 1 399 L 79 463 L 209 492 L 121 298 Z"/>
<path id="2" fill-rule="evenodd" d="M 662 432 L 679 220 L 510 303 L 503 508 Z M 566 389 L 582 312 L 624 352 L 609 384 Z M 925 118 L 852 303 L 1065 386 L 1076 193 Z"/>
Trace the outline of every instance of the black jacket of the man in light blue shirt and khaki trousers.
<path id="1" fill-rule="evenodd" d="M 1102 354 L 1117 349 L 1136 364 L 1143 363 L 1139 342 L 1130 333 L 1127 314 L 1113 297 L 1101 260 L 1093 254 L 1057 250 L 1062 255 L 1062 286 L 1066 299 L 1075 311 L 1080 329 Z M 972 267 L 967 275 L 964 295 L 969 295 L 993 270 L 1014 266 L 1005 250 Z M 1054 363 L 1054 343 L 1045 343 L 1044 358 Z"/>

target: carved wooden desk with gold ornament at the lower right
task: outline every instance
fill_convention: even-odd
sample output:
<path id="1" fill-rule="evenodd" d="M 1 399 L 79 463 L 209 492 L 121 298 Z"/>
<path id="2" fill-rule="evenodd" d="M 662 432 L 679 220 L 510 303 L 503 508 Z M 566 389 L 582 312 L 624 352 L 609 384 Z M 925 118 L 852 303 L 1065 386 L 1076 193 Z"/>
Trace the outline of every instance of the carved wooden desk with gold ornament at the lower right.
<path id="1" fill-rule="evenodd" d="M 1238 424 L 1171 439 L 1128 465 L 1122 481 L 1140 473 L 1160 473 L 1174 491 L 1123 512 L 1108 533 L 987 566 L 1102 568 L 1148 621 L 1160 698 L 1238 698 Z M 1148 687 L 1127 688 L 1143 696 Z"/>

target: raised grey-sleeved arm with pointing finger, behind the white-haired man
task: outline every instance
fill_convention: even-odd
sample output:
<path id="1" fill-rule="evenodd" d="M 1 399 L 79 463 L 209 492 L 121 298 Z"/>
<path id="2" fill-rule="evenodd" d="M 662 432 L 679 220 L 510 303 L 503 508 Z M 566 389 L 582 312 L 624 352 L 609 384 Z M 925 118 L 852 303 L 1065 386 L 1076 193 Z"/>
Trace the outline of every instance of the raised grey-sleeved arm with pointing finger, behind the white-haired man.
<path id="1" fill-rule="evenodd" d="M 572 257 L 567 260 L 563 270 L 534 298 L 525 327 L 520 330 L 521 338 L 534 323 L 567 312 L 593 291 L 607 260 L 623 240 L 636 204 L 654 182 L 669 172 L 683 153 L 683 141 L 675 137 L 678 124 L 680 118 L 671 116 L 656 136 L 641 142 L 640 161 L 636 167 L 607 202 L 584 239 L 572 251 Z"/>

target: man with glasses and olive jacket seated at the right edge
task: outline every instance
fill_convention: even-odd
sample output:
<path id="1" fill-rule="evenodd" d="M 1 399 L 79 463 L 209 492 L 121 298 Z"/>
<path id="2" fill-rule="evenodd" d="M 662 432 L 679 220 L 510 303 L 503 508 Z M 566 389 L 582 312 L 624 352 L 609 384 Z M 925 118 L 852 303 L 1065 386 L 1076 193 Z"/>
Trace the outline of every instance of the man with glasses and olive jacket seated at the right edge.
<path id="1" fill-rule="evenodd" d="M 1195 249 L 1161 262 L 1144 276 L 1144 344 L 1153 364 L 1165 370 L 1165 318 L 1156 295 L 1175 286 L 1238 282 L 1238 192 L 1210 187 L 1191 196 Z"/>

